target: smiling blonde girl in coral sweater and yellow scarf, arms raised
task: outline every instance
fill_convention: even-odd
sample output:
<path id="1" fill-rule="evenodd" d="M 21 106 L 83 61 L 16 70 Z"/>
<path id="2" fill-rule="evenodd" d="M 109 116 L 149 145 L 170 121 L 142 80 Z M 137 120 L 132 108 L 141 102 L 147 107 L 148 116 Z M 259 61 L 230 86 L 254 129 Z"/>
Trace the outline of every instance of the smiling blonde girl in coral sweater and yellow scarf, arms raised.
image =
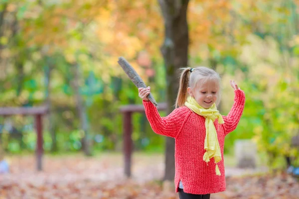
<path id="1" fill-rule="evenodd" d="M 148 100 L 150 88 L 140 88 L 152 130 L 175 138 L 175 189 L 180 199 L 209 199 L 225 191 L 223 147 L 225 136 L 241 118 L 245 94 L 234 81 L 235 100 L 227 116 L 216 108 L 220 101 L 220 77 L 208 68 L 183 68 L 176 109 L 161 117 Z"/>

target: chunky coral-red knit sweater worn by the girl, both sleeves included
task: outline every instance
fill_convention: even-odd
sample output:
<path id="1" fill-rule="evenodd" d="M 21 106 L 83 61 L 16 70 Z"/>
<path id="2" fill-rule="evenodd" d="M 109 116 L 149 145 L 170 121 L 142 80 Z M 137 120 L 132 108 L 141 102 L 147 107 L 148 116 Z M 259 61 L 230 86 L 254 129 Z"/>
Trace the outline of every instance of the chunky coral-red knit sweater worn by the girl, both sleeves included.
<path id="1" fill-rule="evenodd" d="M 205 118 L 186 106 L 174 109 L 166 117 L 161 117 L 150 101 L 143 101 L 152 130 L 160 135 L 175 138 L 175 190 L 178 192 L 182 181 L 184 192 L 189 194 L 212 194 L 225 191 L 223 147 L 224 138 L 232 132 L 241 118 L 245 94 L 235 91 L 232 109 L 223 116 L 224 124 L 214 122 L 221 149 L 222 160 L 218 163 L 221 176 L 215 173 L 214 158 L 207 164 L 203 161 Z"/>

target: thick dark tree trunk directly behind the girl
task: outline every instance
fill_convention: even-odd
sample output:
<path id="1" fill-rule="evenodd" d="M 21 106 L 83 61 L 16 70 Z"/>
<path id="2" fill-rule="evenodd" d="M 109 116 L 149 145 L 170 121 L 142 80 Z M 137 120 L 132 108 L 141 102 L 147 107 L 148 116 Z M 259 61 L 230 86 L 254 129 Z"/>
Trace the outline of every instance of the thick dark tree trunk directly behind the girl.
<path id="1" fill-rule="evenodd" d="M 167 114 L 173 110 L 179 81 L 178 69 L 188 65 L 188 23 L 187 7 L 189 0 L 159 0 L 164 18 L 164 43 L 161 53 L 166 68 Z M 174 179 L 174 139 L 166 138 L 165 180 Z"/>

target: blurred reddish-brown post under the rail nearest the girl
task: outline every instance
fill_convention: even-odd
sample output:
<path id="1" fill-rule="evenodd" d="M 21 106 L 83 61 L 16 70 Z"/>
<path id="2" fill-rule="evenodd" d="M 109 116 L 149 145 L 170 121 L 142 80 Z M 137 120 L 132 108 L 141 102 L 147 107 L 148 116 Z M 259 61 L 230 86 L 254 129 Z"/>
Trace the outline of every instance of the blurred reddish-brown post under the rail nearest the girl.
<path id="1" fill-rule="evenodd" d="M 125 158 L 125 175 L 131 177 L 131 160 L 132 160 L 132 112 L 126 111 L 123 114 L 124 121 L 124 158 Z"/>

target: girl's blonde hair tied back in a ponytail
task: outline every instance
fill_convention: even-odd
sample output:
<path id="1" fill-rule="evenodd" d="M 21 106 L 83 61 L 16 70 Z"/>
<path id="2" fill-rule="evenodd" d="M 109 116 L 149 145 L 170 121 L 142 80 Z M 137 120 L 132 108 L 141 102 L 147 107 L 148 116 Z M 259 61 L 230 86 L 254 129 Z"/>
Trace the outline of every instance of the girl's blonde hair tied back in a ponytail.
<path id="1" fill-rule="evenodd" d="M 175 101 L 175 107 L 180 107 L 185 104 L 187 97 L 189 96 L 187 88 L 191 89 L 204 84 L 207 81 L 215 81 L 218 84 L 219 91 L 217 92 L 216 105 L 220 102 L 220 76 L 214 70 L 207 67 L 197 67 L 194 68 L 192 73 L 190 73 L 191 68 L 180 68 L 181 71 L 178 94 Z M 203 80 L 203 81 L 200 81 Z"/>

